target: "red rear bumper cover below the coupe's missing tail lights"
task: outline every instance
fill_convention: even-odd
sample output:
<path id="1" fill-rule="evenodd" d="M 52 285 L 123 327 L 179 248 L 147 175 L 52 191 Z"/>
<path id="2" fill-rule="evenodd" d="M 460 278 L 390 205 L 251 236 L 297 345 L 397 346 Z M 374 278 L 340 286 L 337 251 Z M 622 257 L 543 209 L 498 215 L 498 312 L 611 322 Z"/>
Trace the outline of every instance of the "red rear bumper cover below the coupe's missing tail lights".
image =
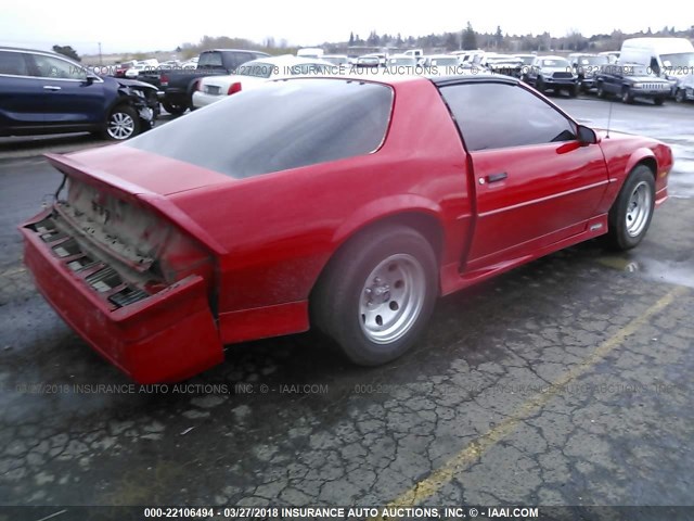
<path id="1" fill-rule="evenodd" d="M 46 212 L 36 220 L 41 220 Z M 53 308 L 90 345 L 140 383 L 178 381 L 223 359 L 219 333 L 200 277 L 184 279 L 120 309 L 69 270 L 65 259 L 26 227 L 24 259 Z"/>

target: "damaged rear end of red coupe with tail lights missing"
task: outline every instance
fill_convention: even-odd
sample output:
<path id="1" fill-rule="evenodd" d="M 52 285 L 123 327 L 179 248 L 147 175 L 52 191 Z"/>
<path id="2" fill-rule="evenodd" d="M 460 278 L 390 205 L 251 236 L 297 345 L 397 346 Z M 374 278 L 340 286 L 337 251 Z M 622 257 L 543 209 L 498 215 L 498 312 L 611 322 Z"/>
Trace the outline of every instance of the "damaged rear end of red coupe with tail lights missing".
<path id="1" fill-rule="evenodd" d="M 216 257 L 204 231 L 159 194 L 47 157 L 63 186 L 21 231 L 25 263 L 55 310 L 140 383 L 219 364 Z"/>

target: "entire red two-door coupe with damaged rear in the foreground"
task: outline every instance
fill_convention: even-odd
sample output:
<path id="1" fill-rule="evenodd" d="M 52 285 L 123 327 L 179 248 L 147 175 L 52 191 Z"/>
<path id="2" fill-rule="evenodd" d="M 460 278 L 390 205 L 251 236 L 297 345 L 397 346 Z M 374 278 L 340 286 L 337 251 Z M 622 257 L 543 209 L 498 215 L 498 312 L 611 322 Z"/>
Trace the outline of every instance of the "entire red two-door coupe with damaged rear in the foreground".
<path id="1" fill-rule="evenodd" d="M 501 76 L 275 81 L 48 160 L 64 182 L 22 226 L 26 264 L 142 383 L 309 326 L 393 360 L 439 295 L 602 234 L 635 246 L 672 166 Z"/>

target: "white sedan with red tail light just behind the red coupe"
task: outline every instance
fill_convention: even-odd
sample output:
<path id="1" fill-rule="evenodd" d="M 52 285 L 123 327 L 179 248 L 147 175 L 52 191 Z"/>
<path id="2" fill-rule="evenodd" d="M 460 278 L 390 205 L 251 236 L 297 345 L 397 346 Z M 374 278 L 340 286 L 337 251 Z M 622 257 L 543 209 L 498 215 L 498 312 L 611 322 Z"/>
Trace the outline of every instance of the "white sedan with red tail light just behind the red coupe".
<path id="1" fill-rule="evenodd" d="M 253 60 L 241 65 L 235 74 L 206 76 L 197 82 L 193 92 L 193 106 L 200 109 L 227 96 L 261 86 L 271 79 L 290 76 L 318 76 L 331 74 L 335 66 L 324 60 L 297 58 L 292 54 Z"/>

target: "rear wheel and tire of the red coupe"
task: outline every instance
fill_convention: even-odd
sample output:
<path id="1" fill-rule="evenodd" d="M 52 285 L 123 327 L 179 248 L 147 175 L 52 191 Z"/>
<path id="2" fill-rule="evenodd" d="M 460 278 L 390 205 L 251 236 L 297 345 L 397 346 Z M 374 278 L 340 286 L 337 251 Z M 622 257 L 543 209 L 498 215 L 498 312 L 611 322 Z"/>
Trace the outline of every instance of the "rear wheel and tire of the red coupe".
<path id="1" fill-rule="evenodd" d="M 404 354 L 438 294 L 434 251 L 417 231 L 381 226 L 357 236 L 331 260 L 311 296 L 311 322 L 355 364 Z"/>

